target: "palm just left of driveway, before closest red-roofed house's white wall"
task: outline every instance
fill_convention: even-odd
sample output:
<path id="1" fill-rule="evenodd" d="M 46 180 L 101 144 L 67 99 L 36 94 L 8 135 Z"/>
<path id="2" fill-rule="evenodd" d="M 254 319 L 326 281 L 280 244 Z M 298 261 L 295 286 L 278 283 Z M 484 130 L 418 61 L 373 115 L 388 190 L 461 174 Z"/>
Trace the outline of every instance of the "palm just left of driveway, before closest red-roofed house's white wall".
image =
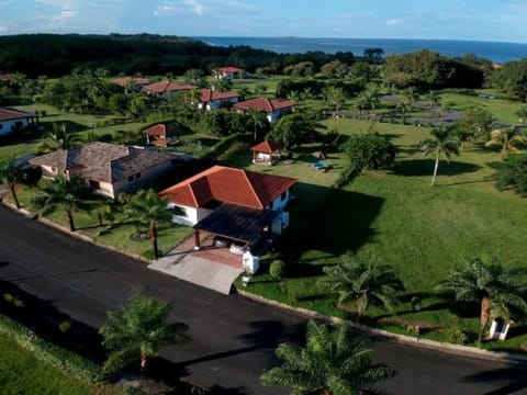
<path id="1" fill-rule="evenodd" d="M 152 239 L 155 259 L 159 258 L 157 248 L 157 224 L 171 224 L 172 215 L 178 214 L 177 208 L 167 208 L 167 202 L 160 199 L 154 190 L 139 190 L 130 196 L 124 206 L 126 216 L 137 222 L 137 233 L 148 230 Z M 178 210 L 180 212 L 180 210 Z"/>

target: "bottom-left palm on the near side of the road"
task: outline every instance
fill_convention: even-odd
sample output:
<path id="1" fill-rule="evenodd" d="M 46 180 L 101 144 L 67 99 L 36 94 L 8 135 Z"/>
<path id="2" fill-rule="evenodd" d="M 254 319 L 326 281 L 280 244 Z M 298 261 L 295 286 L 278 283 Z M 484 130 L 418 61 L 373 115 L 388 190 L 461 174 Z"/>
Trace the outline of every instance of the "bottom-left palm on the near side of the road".
<path id="1" fill-rule="evenodd" d="M 141 294 L 133 295 L 120 311 L 109 312 L 106 324 L 99 329 L 102 345 L 111 350 L 104 370 L 114 371 L 136 360 L 144 370 L 162 345 L 188 341 L 184 325 L 166 323 L 169 313 L 169 303 Z"/>

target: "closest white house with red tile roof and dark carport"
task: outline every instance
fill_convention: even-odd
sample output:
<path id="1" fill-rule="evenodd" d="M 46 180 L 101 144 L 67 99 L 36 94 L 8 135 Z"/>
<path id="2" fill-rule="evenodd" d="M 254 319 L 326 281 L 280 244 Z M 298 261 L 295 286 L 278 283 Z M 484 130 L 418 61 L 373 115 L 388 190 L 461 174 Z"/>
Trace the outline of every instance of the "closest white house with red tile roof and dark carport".
<path id="1" fill-rule="evenodd" d="M 244 260 L 250 260 L 289 226 L 285 206 L 295 184 L 296 179 L 289 177 L 213 166 L 159 196 L 168 200 L 168 207 L 182 211 L 173 222 L 193 226 L 195 248 L 201 247 L 200 232 L 206 232 L 242 244 L 248 252 Z"/>

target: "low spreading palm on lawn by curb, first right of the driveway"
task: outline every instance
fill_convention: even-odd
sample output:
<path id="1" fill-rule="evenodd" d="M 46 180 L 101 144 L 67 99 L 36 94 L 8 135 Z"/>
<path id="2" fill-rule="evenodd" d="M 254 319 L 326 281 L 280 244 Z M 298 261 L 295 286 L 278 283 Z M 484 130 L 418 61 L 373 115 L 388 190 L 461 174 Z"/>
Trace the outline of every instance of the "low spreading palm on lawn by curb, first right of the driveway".
<path id="1" fill-rule="evenodd" d="M 340 257 L 340 264 L 325 267 L 324 273 L 326 276 L 319 284 L 338 292 L 338 304 L 355 300 L 358 319 L 367 312 L 370 303 L 392 311 L 399 303 L 397 293 L 404 290 L 391 266 L 372 264 L 350 252 Z"/>

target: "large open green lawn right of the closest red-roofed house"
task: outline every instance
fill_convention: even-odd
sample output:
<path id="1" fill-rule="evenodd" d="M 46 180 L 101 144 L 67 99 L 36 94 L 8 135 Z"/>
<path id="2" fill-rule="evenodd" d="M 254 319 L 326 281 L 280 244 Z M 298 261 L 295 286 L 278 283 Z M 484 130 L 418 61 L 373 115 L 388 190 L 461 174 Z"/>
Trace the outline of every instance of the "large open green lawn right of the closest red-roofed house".
<path id="1" fill-rule="evenodd" d="M 366 132 L 369 126 L 355 120 L 325 123 L 347 135 Z M 379 262 L 392 264 L 406 286 L 397 315 L 390 317 L 373 308 L 373 325 L 403 334 L 407 326 L 418 325 L 422 336 L 438 340 L 448 340 L 448 329 L 456 327 L 466 331 L 469 342 L 474 341 L 478 306 L 466 309 L 452 304 L 435 293 L 436 285 L 463 257 L 496 255 L 505 264 L 524 263 L 527 201 L 494 189 L 489 163 L 500 160 L 498 153 L 463 148 L 449 165 L 441 161 L 437 185 L 430 187 L 433 159 L 415 149 L 417 142 L 428 137 L 429 128 L 392 124 L 377 124 L 375 128 L 400 148 L 394 169 L 359 176 L 340 190 L 328 189 L 328 183 L 317 179 L 321 174 L 299 171 L 302 183 L 291 206 L 291 227 L 277 248 L 279 252 L 264 257 L 266 264 L 281 253 L 290 262 L 289 275 L 276 282 L 264 270 L 248 290 L 351 317 L 335 307 L 335 295 L 319 290 L 317 280 L 322 267 L 335 264 L 345 251 L 371 253 Z M 239 157 L 233 159 L 238 166 L 244 163 Z M 280 169 L 277 166 L 271 171 L 282 173 Z M 413 296 L 423 301 L 418 312 L 411 308 Z M 527 343 L 527 335 L 522 325 L 515 330 L 509 340 L 485 347 L 517 350 Z"/>

